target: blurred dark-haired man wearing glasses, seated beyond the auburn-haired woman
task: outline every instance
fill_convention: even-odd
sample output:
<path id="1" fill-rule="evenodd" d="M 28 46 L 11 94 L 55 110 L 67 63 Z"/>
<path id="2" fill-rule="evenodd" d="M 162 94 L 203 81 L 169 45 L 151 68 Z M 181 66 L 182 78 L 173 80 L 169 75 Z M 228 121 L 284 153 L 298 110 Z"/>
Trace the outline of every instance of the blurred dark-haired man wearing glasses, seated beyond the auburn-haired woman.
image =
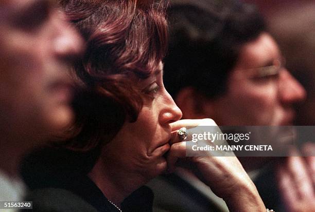
<path id="1" fill-rule="evenodd" d="M 172 3 L 169 10 L 171 38 L 165 58 L 164 81 L 182 110 L 183 118 L 212 118 L 224 126 L 292 125 L 294 105 L 305 99 L 305 90 L 284 67 L 283 55 L 257 10 L 237 1 Z M 244 168 L 255 173 L 254 182 L 257 182 L 259 194 L 265 198 L 267 207 L 275 211 L 285 210 L 280 209 L 284 204 L 279 202 L 275 183 L 277 172 L 284 169 L 290 175 L 278 180 L 279 184 L 290 179 L 295 189 L 286 191 L 295 196 L 302 195 L 301 199 L 295 200 L 296 205 L 302 202 L 313 205 L 313 172 L 309 172 L 313 165 L 307 163 L 310 160 L 291 157 L 279 168 L 276 164 L 280 159 L 239 159 Z M 187 204 L 173 204 L 174 208 L 193 211 L 198 202 L 204 205 L 202 211 L 206 211 L 209 203 L 205 203 L 205 197 L 215 198 L 196 180 L 190 180 L 186 174 L 179 175 L 160 179 L 150 186 L 168 182 L 171 184 L 168 188 L 186 187 L 188 191 L 183 198 L 187 198 Z M 199 196 L 194 187 L 201 191 Z M 187 192 L 193 195 L 189 196 Z M 171 204 L 163 198 L 171 199 L 169 194 L 168 191 L 162 192 L 162 204 L 158 207 Z M 222 206 L 219 202 L 215 204 Z"/>

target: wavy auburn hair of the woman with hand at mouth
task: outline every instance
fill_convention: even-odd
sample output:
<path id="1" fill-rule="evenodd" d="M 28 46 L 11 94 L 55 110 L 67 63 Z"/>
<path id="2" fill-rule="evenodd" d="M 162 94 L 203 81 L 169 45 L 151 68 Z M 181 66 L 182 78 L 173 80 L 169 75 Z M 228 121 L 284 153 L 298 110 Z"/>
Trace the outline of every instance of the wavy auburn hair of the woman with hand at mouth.
<path id="1" fill-rule="evenodd" d="M 75 74 L 83 82 L 74 99 L 74 137 L 66 147 L 91 150 L 109 141 L 125 121 L 137 119 L 136 89 L 158 69 L 167 51 L 167 0 L 61 0 L 66 17 L 86 41 Z"/>

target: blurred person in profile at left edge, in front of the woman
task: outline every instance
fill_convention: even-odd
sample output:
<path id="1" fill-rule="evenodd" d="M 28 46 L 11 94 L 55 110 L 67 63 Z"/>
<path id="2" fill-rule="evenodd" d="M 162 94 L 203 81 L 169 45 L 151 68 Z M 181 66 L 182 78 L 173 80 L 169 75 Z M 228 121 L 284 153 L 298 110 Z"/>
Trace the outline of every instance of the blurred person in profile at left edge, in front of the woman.
<path id="1" fill-rule="evenodd" d="M 0 46 L 0 201 L 19 201 L 23 155 L 73 120 L 67 71 L 82 40 L 54 1 L 10 0 L 0 2 Z"/>

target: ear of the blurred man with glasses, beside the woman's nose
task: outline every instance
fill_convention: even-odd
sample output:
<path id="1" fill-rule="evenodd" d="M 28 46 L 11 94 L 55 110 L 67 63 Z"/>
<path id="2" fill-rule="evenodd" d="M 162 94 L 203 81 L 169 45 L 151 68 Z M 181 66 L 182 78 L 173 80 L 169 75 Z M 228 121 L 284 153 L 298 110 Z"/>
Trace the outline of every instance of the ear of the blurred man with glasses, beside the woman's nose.
<path id="1" fill-rule="evenodd" d="M 174 99 L 183 112 L 183 119 L 205 119 L 214 117 L 214 106 L 211 100 L 196 91 L 193 87 L 181 89 Z"/>

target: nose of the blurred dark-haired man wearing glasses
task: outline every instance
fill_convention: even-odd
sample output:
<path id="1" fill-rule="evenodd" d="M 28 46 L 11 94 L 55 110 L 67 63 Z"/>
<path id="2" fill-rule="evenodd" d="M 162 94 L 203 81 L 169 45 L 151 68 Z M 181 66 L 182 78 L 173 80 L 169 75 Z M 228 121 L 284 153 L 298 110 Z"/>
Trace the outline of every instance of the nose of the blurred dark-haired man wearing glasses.
<path id="1" fill-rule="evenodd" d="M 281 71 L 279 75 L 279 92 L 284 104 L 298 103 L 306 98 L 304 87 L 287 69 Z"/>

